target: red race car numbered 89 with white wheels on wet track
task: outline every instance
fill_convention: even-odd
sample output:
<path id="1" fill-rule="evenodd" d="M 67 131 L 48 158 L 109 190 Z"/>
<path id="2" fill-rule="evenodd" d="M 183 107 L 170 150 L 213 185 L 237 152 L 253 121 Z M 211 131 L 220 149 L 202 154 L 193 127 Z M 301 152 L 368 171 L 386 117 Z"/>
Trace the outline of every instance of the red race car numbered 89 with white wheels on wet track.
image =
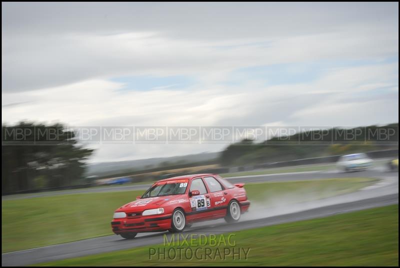
<path id="1" fill-rule="evenodd" d="M 202 220 L 238 221 L 250 205 L 243 185 L 216 174 L 159 180 L 135 201 L 115 210 L 112 231 L 131 239 L 138 232 L 181 232 Z"/>

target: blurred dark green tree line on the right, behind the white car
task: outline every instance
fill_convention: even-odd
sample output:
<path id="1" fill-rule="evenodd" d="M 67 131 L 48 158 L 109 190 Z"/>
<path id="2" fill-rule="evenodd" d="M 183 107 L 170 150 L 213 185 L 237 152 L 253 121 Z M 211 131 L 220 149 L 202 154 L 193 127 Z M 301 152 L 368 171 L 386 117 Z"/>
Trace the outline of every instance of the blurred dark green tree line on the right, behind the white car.
<path id="1" fill-rule="evenodd" d="M 398 148 L 398 123 L 300 131 L 262 142 L 243 139 L 227 146 L 219 163 L 222 166 L 246 165 L 390 148 Z"/>

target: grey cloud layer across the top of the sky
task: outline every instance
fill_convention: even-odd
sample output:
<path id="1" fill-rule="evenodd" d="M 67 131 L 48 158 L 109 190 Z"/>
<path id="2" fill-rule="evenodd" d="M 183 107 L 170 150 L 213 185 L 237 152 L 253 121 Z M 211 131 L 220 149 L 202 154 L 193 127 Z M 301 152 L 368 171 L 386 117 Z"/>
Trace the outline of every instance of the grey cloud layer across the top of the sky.
<path id="1" fill-rule="evenodd" d="M 363 4 L 360 11 L 346 4 L 290 8 L 232 4 L 226 10 L 224 5 L 6 3 L 2 90 L 27 91 L 132 75 L 196 75 L 212 84 L 248 66 L 338 57 L 384 59 L 398 54 L 398 13 L 391 6 Z M 191 7 L 196 8 L 195 16 Z M 172 13 L 165 15 L 168 10 Z M 324 12 L 323 20 L 318 12 Z M 224 32 L 215 38 L 219 27 Z"/>

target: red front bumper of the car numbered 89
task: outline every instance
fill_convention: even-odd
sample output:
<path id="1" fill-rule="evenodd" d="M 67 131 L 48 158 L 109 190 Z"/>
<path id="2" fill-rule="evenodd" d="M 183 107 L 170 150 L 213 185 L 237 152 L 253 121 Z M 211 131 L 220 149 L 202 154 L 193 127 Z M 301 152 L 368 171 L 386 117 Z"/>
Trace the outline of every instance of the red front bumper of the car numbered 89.
<path id="1" fill-rule="evenodd" d="M 116 218 L 111 221 L 115 234 L 125 232 L 155 232 L 171 228 L 171 214 Z"/>

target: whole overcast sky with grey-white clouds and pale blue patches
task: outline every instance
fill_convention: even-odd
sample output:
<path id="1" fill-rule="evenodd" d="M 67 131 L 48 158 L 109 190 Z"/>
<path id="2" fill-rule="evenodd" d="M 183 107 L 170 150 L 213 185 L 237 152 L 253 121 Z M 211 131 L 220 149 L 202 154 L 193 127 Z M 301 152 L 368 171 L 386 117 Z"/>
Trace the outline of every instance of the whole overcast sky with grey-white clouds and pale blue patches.
<path id="1" fill-rule="evenodd" d="M 2 123 L 398 122 L 398 3 L 2 3 Z M 92 161 L 225 144 L 96 145 Z"/>

